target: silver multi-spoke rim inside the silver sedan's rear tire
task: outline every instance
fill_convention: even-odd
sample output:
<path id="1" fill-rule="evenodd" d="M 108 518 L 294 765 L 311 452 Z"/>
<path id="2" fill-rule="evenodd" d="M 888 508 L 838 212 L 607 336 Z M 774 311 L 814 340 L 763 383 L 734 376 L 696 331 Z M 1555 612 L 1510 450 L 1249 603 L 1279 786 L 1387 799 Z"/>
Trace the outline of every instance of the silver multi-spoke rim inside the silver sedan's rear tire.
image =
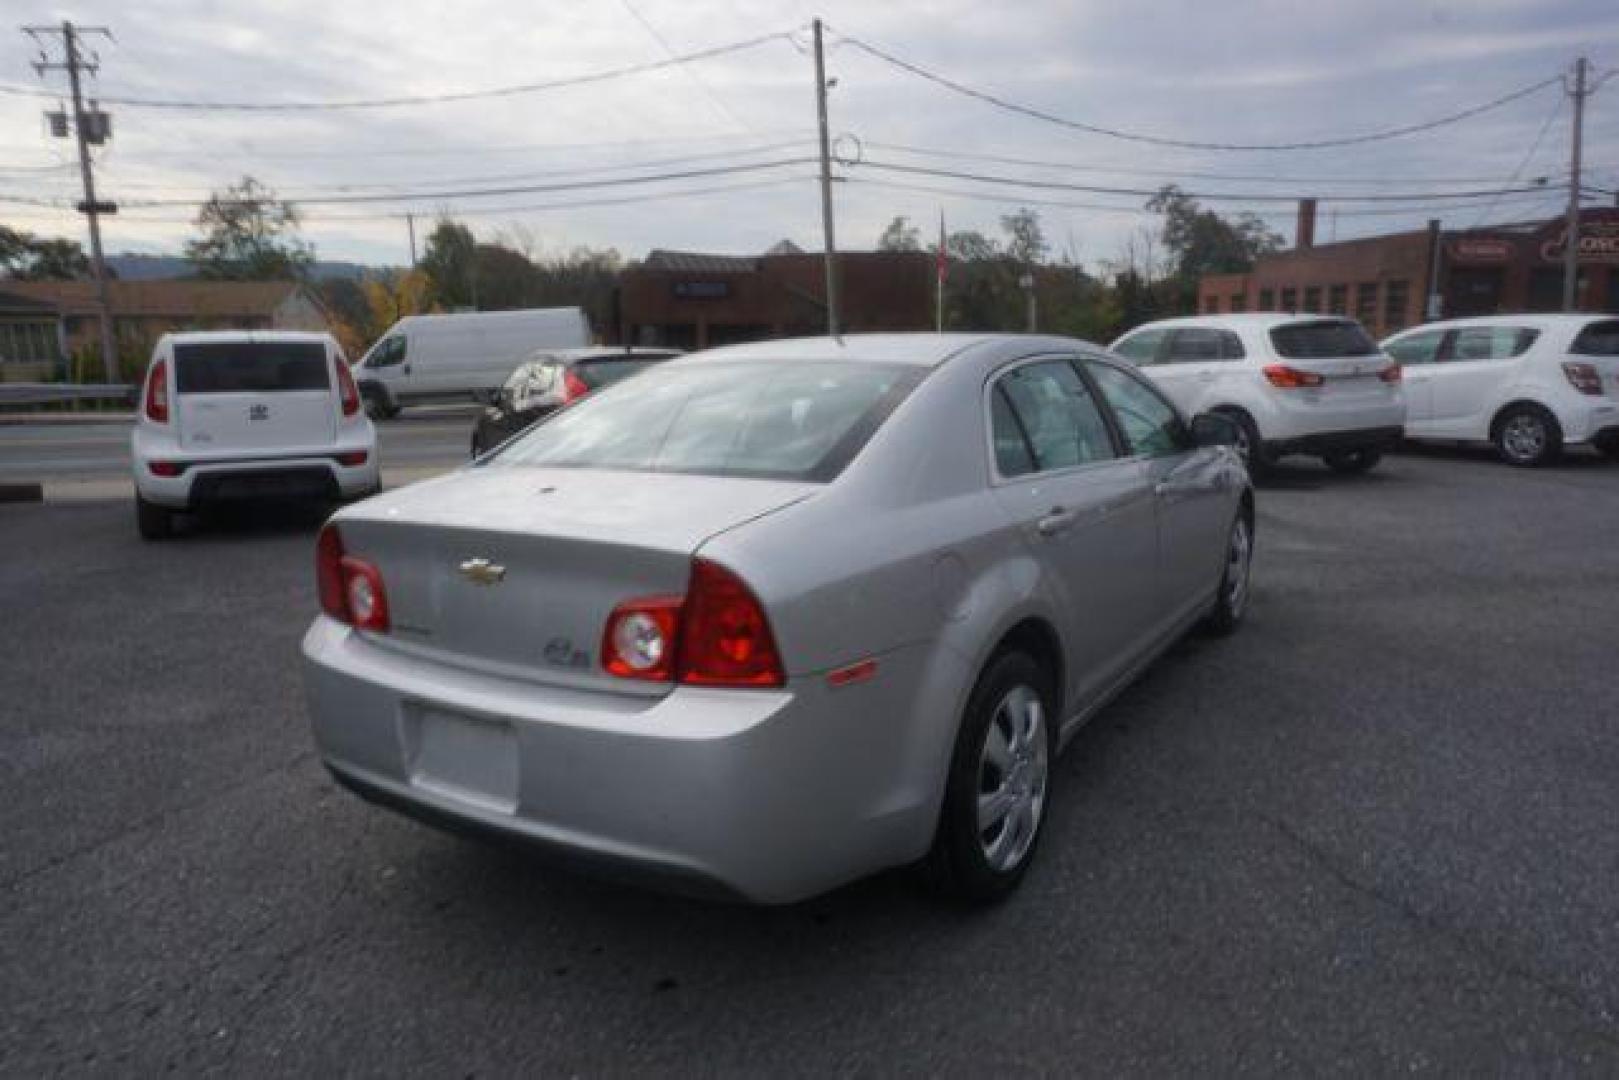
<path id="1" fill-rule="evenodd" d="M 1046 708 L 1033 687 L 1012 687 L 996 706 L 978 756 L 978 844 L 991 870 L 1026 857 L 1046 811 Z"/>

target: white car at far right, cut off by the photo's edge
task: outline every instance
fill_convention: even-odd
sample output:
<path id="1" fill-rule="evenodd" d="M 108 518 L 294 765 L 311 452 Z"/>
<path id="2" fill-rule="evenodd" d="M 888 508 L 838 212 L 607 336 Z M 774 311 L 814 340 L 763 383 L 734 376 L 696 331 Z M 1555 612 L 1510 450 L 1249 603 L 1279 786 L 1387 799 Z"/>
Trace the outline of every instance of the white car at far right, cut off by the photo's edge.
<path id="1" fill-rule="evenodd" d="M 1396 334 L 1409 439 L 1491 442 L 1509 465 L 1564 447 L 1619 458 L 1619 319 L 1485 316 Z"/>

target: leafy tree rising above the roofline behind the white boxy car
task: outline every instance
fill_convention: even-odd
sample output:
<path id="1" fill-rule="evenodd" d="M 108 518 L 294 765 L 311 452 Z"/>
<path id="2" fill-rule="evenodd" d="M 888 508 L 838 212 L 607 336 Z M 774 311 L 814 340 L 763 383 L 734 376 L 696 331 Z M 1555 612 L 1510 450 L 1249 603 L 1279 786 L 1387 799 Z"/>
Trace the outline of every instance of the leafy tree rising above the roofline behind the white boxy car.
<path id="1" fill-rule="evenodd" d="M 314 248 L 298 236 L 298 209 L 253 176 L 215 191 L 198 210 L 186 259 L 198 277 L 220 282 L 303 280 Z"/>

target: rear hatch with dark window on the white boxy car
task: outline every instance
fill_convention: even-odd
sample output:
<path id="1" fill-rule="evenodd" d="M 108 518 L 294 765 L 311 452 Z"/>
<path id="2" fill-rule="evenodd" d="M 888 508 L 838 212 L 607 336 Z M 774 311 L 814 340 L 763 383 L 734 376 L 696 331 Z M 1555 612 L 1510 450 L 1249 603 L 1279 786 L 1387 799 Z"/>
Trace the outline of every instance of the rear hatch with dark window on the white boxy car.
<path id="1" fill-rule="evenodd" d="M 337 439 L 324 342 L 175 345 L 175 400 L 186 450 L 300 450 Z"/>

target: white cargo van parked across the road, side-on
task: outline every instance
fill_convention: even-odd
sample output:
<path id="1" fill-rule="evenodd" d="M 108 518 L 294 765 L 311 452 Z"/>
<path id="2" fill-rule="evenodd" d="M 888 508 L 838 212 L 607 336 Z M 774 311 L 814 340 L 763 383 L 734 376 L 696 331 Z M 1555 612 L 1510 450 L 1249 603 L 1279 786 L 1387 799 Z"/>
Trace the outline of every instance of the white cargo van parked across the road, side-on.
<path id="1" fill-rule="evenodd" d="M 366 411 L 489 400 L 536 348 L 583 348 L 591 324 L 578 308 L 405 316 L 355 368 Z"/>

